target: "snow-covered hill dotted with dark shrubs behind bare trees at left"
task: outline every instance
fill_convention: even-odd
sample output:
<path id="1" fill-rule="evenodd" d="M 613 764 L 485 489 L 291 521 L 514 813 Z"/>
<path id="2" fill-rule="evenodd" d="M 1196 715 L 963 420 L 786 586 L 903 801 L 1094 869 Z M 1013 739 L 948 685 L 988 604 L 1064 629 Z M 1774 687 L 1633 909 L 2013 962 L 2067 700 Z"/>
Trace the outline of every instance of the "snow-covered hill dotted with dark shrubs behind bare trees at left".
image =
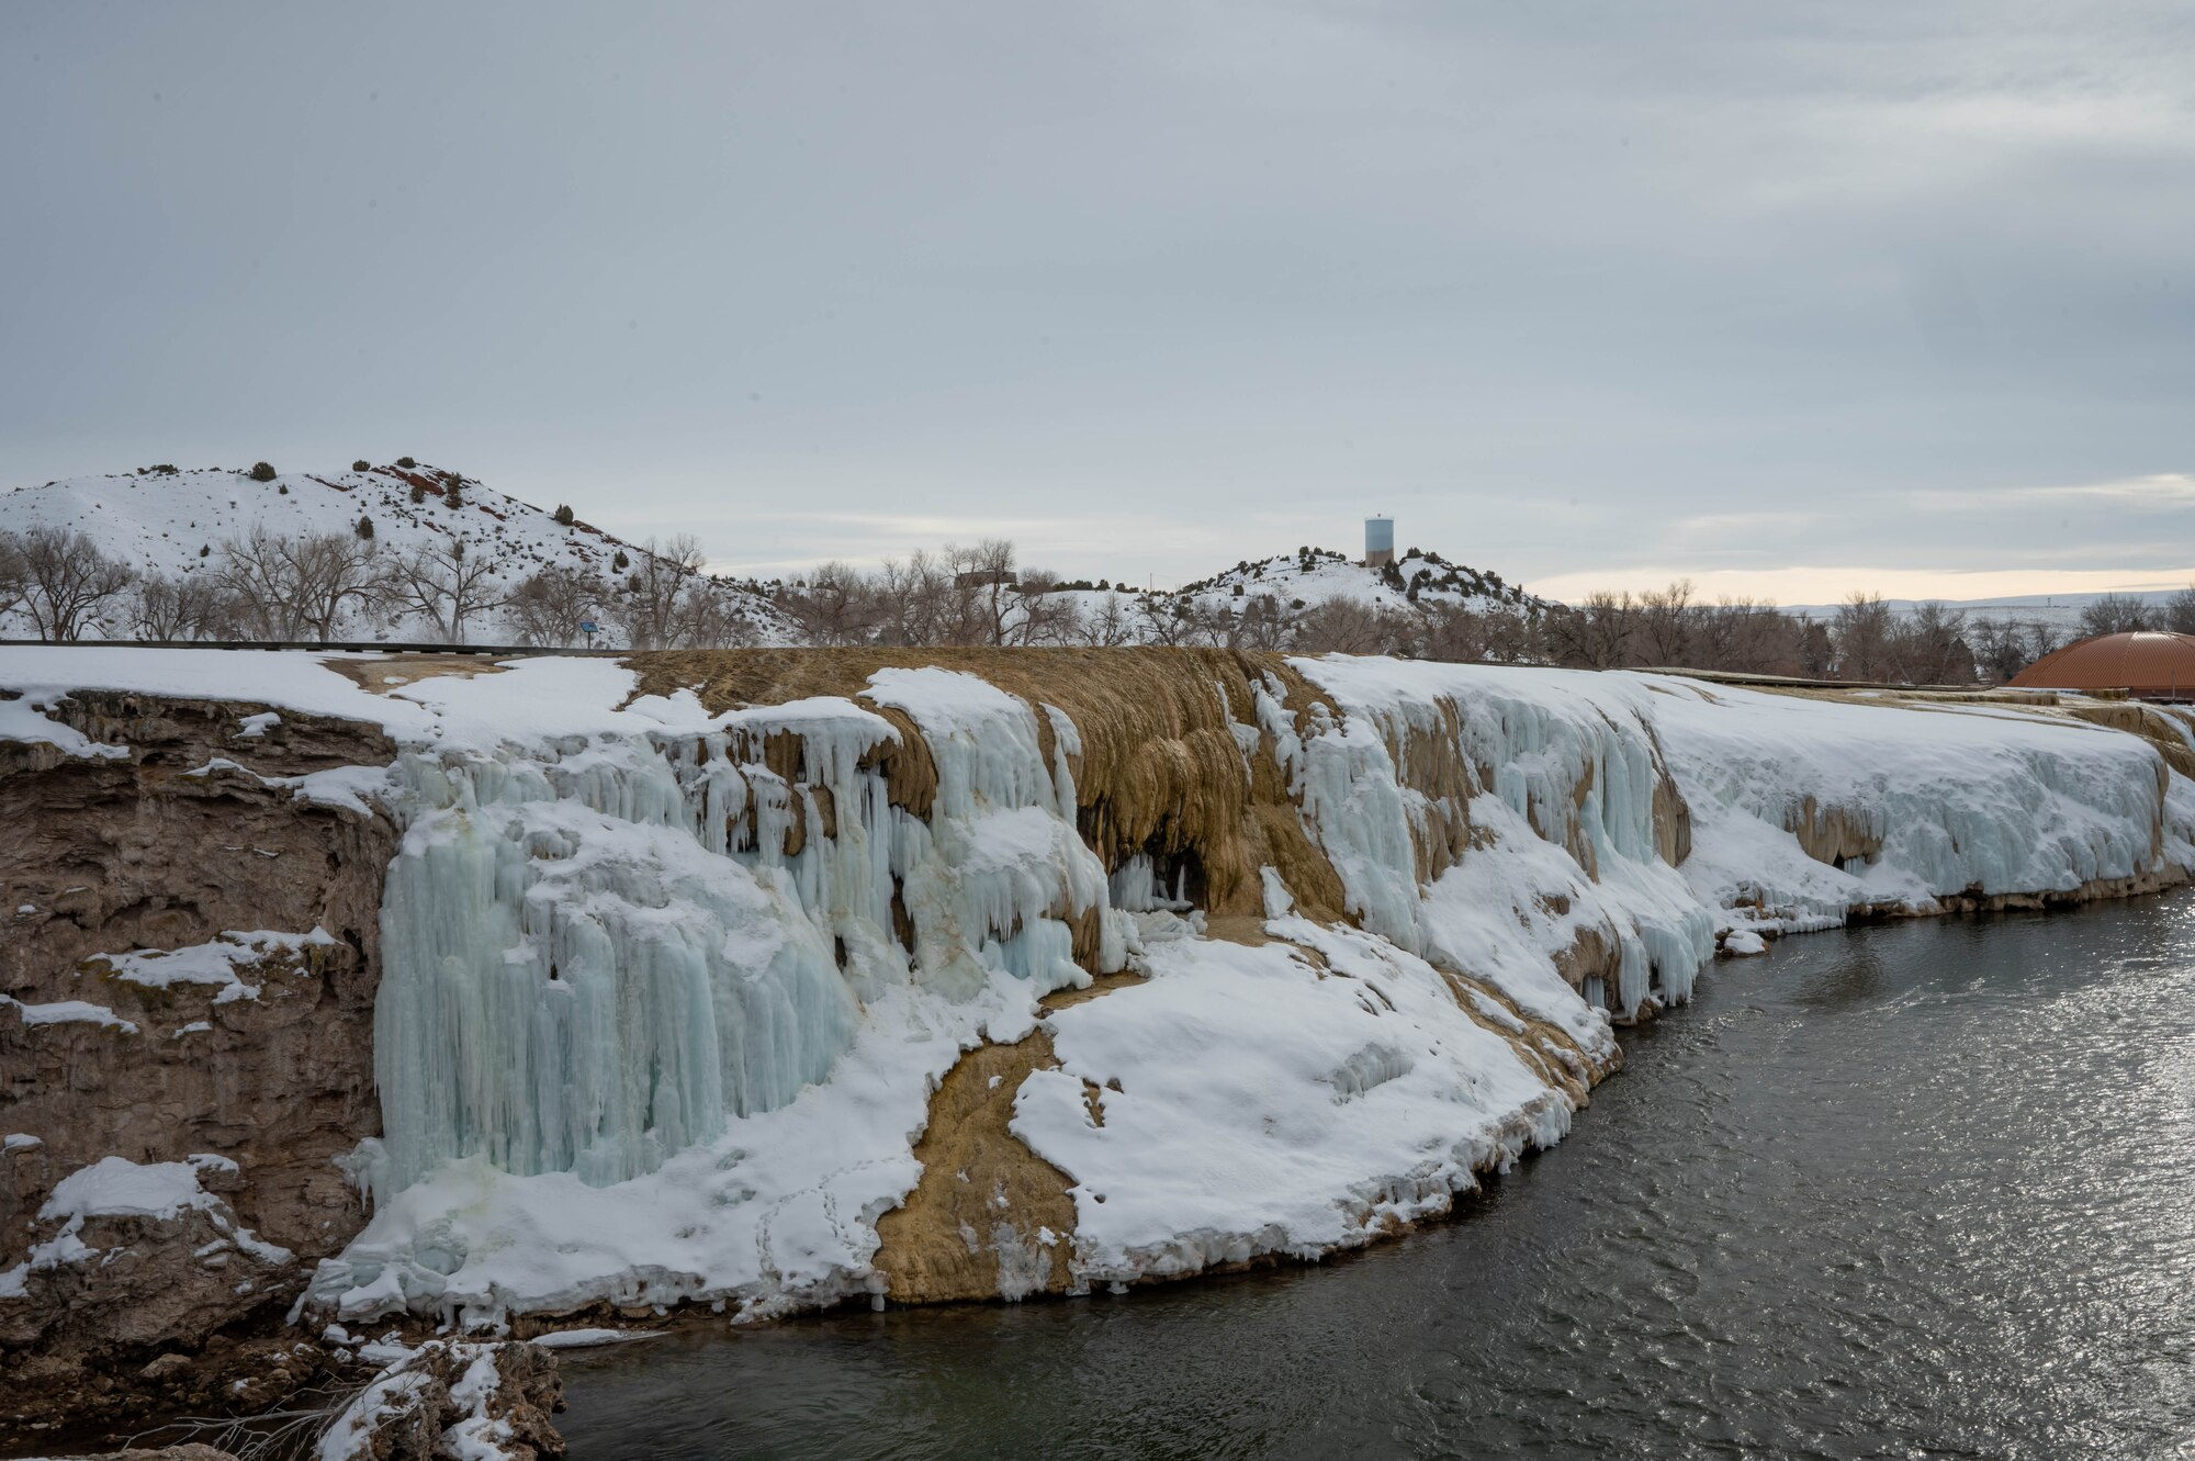
<path id="1" fill-rule="evenodd" d="M 452 491 L 454 487 L 454 491 Z M 566 513 L 569 516 L 569 513 Z M 619 597 L 626 577 L 643 557 L 588 522 L 483 487 L 457 472 L 413 465 L 353 465 L 349 472 L 285 472 L 257 480 L 248 469 L 138 467 L 110 476 L 81 476 L 42 487 L 18 487 L 0 496 L 0 529 L 33 533 L 61 529 L 88 535 L 101 553 L 121 559 L 143 577 L 191 581 L 211 577 L 222 548 L 252 529 L 277 537 L 336 533 L 371 542 L 386 564 L 426 551 L 465 546 L 465 557 L 489 564 L 483 594 L 505 599 L 525 579 L 560 568 L 582 575 L 601 597 L 601 643 L 628 643 Z M 698 579 L 727 612 L 744 616 L 762 643 L 786 643 L 790 623 L 757 586 Z M 424 616 L 402 610 L 349 612 L 345 636 L 371 641 L 435 638 Z M 127 608 L 116 599 L 86 636 L 127 638 Z M 35 636 L 22 612 L 0 614 L 0 636 Z M 514 614 L 489 608 L 468 625 L 474 643 L 520 638 Z"/>

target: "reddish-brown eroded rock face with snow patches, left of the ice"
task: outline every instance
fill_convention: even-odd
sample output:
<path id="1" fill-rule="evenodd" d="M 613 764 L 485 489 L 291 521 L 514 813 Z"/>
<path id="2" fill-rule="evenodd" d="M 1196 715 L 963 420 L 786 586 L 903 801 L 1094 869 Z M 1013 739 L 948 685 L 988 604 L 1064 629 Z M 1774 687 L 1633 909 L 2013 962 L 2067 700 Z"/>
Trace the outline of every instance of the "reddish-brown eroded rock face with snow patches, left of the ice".
<path id="1" fill-rule="evenodd" d="M 79 693 L 50 715 L 127 757 L 0 744 L 0 1371 L 40 1380 L 0 1386 L 0 1443 L 57 1417 L 121 1424 L 230 1354 L 250 1351 L 246 1386 L 270 1402 L 270 1375 L 312 1378 L 246 1338 L 362 1224 L 334 1158 L 380 1130 L 395 827 L 283 781 L 386 766 L 393 746 L 252 704 Z M 200 1158 L 206 1200 L 55 1211 L 103 1158 Z M 147 1378 L 162 1356 L 180 1362 Z"/>

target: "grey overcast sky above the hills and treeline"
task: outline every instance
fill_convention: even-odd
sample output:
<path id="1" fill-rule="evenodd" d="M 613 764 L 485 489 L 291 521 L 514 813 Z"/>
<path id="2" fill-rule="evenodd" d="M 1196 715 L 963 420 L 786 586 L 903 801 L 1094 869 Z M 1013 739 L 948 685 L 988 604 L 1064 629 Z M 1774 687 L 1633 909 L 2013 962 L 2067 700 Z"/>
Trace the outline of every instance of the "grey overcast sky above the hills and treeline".
<path id="1" fill-rule="evenodd" d="M 2195 575 L 2195 9 L 0 7 L 0 487 L 413 454 L 718 566 Z M 4 513 L 4 498 L 0 498 Z"/>

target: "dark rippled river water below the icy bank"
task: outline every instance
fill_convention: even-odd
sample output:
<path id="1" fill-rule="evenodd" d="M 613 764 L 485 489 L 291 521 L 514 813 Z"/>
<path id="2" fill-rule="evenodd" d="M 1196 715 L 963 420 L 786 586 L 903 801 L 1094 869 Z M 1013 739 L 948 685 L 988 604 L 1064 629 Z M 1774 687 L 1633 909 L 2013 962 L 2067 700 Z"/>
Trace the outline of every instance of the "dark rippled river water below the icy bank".
<path id="1" fill-rule="evenodd" d="M 1326 1266 L 566 1356 L 597 1457 L 2195 1457 L 2195 897 L 1791 939 Z"/>

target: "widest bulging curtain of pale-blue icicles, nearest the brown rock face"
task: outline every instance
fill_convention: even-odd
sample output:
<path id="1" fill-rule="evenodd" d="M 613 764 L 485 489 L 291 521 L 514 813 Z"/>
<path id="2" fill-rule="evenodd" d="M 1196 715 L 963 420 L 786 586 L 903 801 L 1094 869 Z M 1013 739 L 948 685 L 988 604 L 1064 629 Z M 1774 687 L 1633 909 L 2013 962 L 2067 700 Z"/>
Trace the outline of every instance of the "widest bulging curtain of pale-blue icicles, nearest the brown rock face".
<path id="1" fill-rule="evenodd" d="M 648 741 L 408 755 L 399 783 L 419 809 L 382 904 L 378 1198 L 461 1156 L 617 1182 L 845 1049 L 830 926 L 786 869 L 700 836 L 744 812 L 720 748 L 676 770 Z"/>

